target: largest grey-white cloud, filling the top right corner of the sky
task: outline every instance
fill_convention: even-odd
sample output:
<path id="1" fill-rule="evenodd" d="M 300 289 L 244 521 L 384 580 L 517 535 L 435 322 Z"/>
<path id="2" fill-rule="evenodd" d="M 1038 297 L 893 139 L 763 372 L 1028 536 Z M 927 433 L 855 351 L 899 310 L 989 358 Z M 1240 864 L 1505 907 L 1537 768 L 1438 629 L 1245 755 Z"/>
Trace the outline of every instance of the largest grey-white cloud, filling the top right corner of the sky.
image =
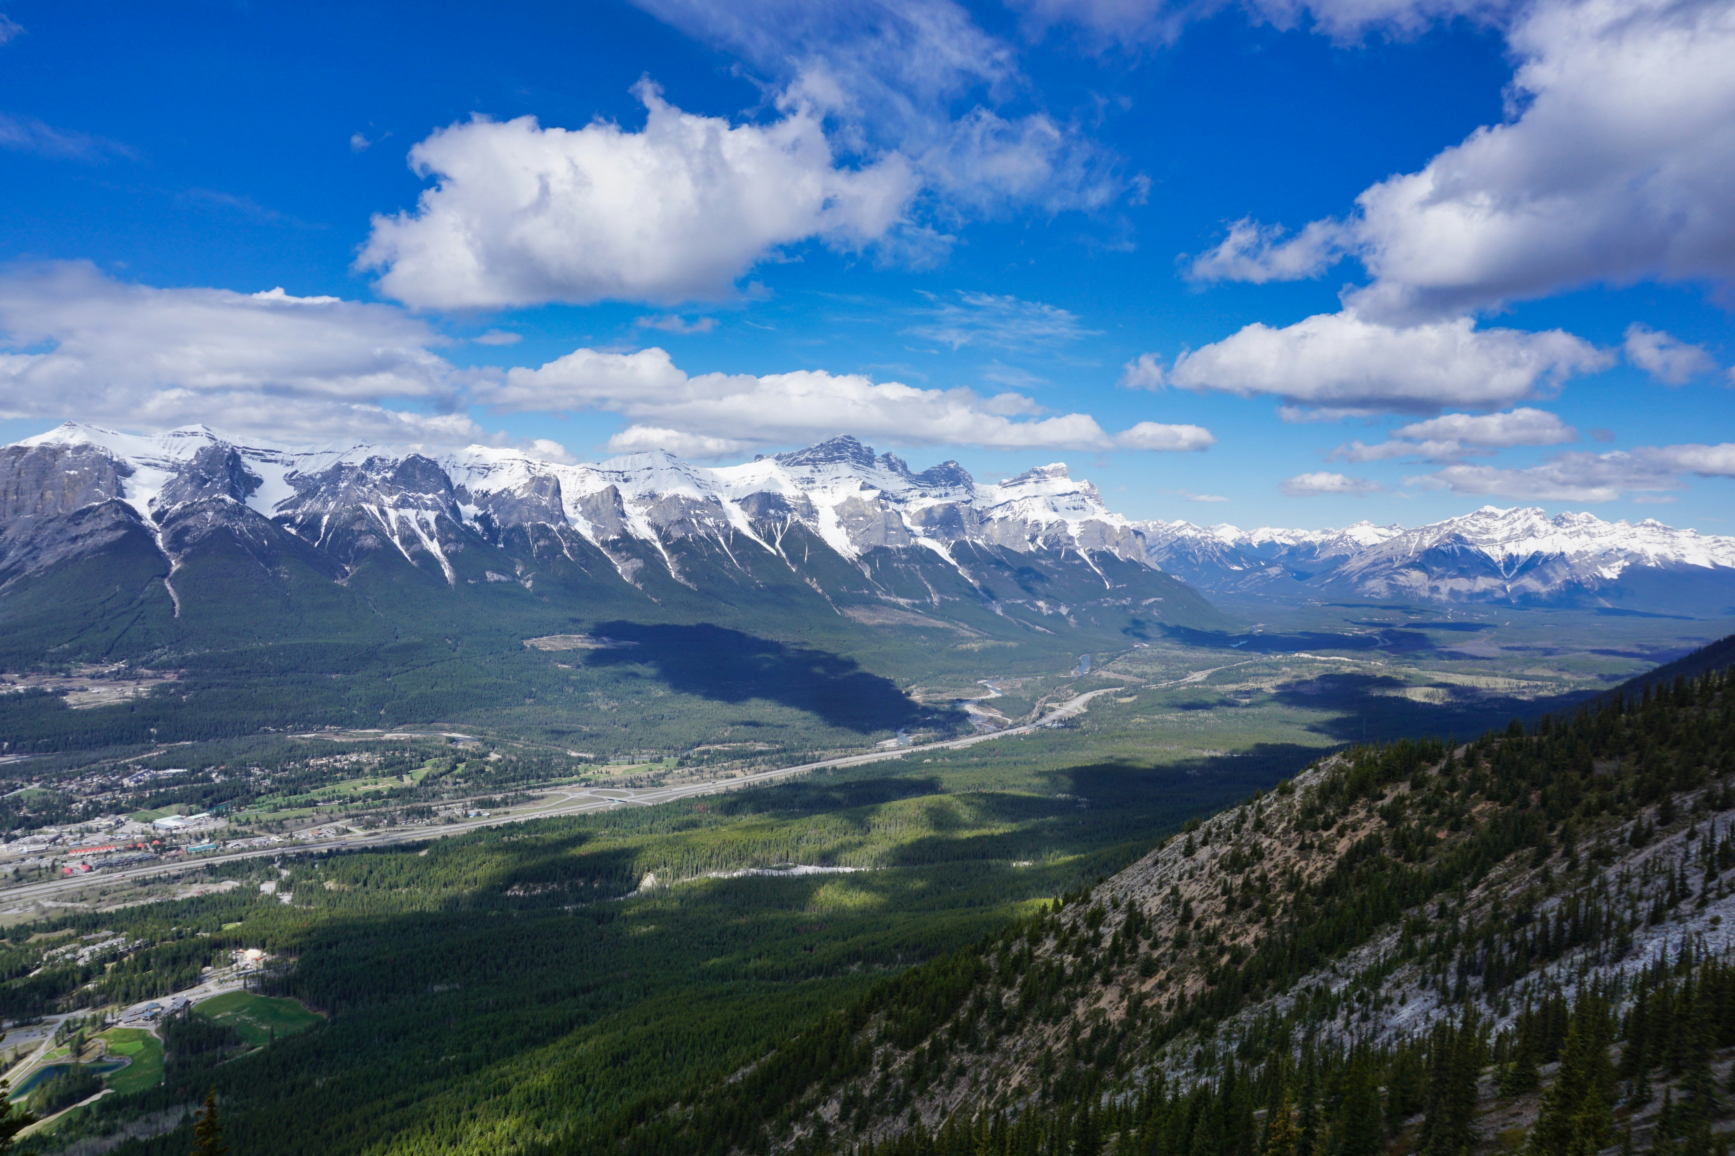
<path id="1" fill-rule="evenodd" d="M 1376 7 L 1376 5 L 1371 5 Z M 1348 302 L 1414 319 L 1641 279 L 1735 281 L 1735 5 L 1541 0 L 1508 31 L 1511 116 L 1293 239 L 1253 222 L 1195 262 L 1270 281 L 1357 257 Z"/>

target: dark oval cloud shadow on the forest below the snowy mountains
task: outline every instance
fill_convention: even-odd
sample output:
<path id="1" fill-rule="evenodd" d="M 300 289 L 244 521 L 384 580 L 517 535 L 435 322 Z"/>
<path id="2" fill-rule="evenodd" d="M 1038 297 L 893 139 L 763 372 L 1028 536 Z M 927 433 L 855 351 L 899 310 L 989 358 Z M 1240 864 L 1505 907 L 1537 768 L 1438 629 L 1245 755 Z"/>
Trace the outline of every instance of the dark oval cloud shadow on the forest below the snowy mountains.
<path id="1" fill-rule="evenodd" d="M 859 733 L 911 726 L 930 714 L 892 679 L 829 650 L 789 646 L 708 622 L 599 622 L 595 633 L 632 645 L 593 650 L 586 666 L 647 666 L 670 690 L 715 702 L 765 698 Z"/>

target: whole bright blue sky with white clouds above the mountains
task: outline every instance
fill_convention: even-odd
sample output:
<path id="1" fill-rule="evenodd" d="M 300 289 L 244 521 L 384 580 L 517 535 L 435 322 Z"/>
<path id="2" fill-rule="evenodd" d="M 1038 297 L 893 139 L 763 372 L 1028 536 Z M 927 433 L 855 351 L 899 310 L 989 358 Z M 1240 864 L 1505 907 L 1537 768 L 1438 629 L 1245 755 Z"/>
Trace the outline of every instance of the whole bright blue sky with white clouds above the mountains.
<path id="1" fill-rule="evenodd" d="M 1728 0 L 0 12 L 7 440 L 857 433 L 1732 532 Z"/>

